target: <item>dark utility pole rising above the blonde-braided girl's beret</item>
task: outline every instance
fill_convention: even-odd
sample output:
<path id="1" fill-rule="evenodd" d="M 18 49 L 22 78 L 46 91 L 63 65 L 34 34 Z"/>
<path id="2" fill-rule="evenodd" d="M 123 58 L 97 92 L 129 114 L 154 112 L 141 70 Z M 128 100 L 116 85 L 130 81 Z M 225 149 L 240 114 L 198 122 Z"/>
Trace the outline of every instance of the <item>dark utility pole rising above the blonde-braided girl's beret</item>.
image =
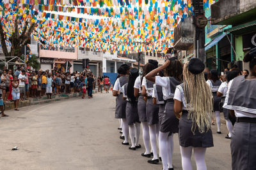
<path id="1" fill-rule="evenodd" d="M 205 25 L 198 24 L 207 22 L 207 18 L 204 19 L 204 2 L 203 0 L 192 0 L 192 5 L 194 7 L 193 24 L 195 25 L 194 56 L 205 63 Z"/>

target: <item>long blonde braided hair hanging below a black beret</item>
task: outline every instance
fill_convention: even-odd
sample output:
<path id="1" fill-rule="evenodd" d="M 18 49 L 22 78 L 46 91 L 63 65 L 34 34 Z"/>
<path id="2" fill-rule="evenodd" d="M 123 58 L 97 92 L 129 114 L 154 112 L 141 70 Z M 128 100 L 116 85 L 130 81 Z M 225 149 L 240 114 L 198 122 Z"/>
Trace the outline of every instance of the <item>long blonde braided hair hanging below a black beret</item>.
<path id="1" fill-rule="evenodd" d="M 188 62 L 186 62 L 183 69 L 183 78 L 188 119 L 193 122 L 191 130 L 195 133 L 197 125 L 200 133 L 205 132 L 205 130 L 207 132 L 211 129 L 212 92 L 205 82 L 204 72 L 200 74 L 190 73 Z"/>

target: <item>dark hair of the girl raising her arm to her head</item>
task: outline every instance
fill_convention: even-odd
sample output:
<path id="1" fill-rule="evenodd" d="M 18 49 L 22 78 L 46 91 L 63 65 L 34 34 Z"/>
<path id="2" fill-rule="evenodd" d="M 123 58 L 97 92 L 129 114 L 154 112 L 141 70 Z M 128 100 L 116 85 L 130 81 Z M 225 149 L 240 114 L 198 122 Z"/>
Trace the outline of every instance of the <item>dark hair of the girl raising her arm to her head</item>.
<path id="1" fill-rule="evenodd" d="M 169 60 L 170 65 L 164 69 L 164 76 L 174 77 L 176 80 L 182 81 L 183 64 L 177 57 L 172 57 Z"/>

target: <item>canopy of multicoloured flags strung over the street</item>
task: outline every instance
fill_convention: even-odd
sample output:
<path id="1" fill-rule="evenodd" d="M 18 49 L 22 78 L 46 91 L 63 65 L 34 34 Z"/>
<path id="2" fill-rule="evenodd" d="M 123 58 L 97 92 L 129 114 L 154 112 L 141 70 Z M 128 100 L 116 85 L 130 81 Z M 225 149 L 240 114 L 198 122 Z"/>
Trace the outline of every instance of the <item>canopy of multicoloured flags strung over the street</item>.
<path id="1" fill-rule="evenodd" d="M 205 8 L 211 3 L 204 0 Z M 165 53 L 174 28 L 193 15 L 191 0 L 4 0 L 0 10 L 8 45 L 19 16 L 20 34 L 26 20 L 35 22 L 33 38 L 45 47 L 119 53 Z"/>

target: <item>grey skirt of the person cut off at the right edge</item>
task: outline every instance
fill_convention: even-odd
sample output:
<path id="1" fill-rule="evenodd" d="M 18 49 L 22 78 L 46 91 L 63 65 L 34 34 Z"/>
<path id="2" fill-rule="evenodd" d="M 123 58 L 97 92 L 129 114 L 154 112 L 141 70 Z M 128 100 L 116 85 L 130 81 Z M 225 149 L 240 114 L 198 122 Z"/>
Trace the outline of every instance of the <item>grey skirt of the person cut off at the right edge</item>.
<path id="1" fill-rule="evenodd" d="M 230 147 L 232 170 L 255 170 L 256 124 L 236 122 Z"/>

